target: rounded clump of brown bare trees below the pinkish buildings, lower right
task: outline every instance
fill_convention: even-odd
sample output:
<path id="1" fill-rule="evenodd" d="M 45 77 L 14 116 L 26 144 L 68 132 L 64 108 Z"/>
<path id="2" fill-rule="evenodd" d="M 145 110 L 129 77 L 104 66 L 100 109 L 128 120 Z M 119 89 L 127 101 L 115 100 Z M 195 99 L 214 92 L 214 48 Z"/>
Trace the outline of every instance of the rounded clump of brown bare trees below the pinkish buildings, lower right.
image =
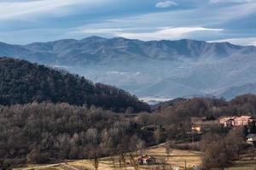
<path id="1" fill-rule="evenodd" d="M 255 125 L 254 125 L 255 126 Z M 206 133 L 202 136 L 200 148 L 203 152 L 202 164 L 207 169 L 224 169 L 237 160 L 246 150 L 244 127 L 231 129 L 226 135 Z"/>

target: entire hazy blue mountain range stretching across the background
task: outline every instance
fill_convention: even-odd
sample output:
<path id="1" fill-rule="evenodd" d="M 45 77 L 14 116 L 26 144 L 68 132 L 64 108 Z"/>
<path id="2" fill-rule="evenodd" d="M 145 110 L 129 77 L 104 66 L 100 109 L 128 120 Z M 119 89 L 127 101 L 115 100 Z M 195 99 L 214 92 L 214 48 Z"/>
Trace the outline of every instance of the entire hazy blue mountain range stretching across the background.
<path id="1" fill-rule="evenodd" d="M 13 45 L 0 56 L 27 59 L 123 88 L 138 97 L 255 93 L 256 47 L 230 42 L 87 37 Z"/>

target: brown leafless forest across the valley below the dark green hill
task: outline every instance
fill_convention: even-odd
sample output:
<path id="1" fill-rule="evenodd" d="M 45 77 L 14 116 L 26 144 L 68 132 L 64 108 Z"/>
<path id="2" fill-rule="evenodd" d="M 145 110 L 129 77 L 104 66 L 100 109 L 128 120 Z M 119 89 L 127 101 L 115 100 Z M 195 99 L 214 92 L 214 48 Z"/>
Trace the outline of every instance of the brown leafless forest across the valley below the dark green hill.
<path id="1" fill-rule="evenodd" d="M 2 167 L 111 156 L 168 140 L 191 140 L 191 116 L 253 115 L 256 95 L 224 99 L 183 99 L 152 113 L 116 114 L 91 105 L 32 102 L 0 106 Z M 212 127 L 207 133 L 226 135 Z M 212 135 L 211 135 L 212 136 Z M 0 164 L 0 165 L 1 165 Z M 1 166 L 0 166 L 1 167 Z"/>

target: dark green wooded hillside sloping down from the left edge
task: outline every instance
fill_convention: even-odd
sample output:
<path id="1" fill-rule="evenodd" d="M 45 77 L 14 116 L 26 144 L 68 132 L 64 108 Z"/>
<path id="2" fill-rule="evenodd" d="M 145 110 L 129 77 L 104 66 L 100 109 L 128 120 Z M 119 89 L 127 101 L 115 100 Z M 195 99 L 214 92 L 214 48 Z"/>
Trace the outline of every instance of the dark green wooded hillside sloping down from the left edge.
<path id="1" fill-rule="evenodd" d="M 26 60 L 0 58 L 0 105 L 33 101 L 96 105 L 115 112 L 149 111 L 147 104 L 119 88 Z"/>

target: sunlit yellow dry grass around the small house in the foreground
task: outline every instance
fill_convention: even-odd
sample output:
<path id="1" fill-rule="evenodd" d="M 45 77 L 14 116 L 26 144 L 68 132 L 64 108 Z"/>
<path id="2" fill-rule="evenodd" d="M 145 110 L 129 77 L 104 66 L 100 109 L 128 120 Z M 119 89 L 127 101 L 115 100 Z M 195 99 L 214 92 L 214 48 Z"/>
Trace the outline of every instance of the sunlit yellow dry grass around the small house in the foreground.
<path id="1" fill-rule="evenodd" d="M 201 164 L 201 153 L 197 151 L 190 151 L 190 150 L 172 150 L 171 156 L 166 158 L 166 150 L 163 145 L 154 146 L 149 148 L 148 150 L 144 151 L 144 154 L 154 156 L 157 158 L 159 163 L 162 161 L 166 161 L 166 165 L 172 165 L 172 167 L 184 167 L 185 161 L 187 167 L 193 167 L 194 165 Z M 128 161 L 129 158 L 127 157 L 126 160 Z M 119 167 L 119 159 L 117 156 L 114 156 L 115 164 L 113 165 L 113 161 L 110 157 L 102 158 L 100 161 L 99 170 L 114 170 L 114 169 L 125 169 L 125 167 Z M 161 161 L 161 162 L 160 162 Z M 131 165 L 127 165 L 126 169 L 134 169 L 134 167 L 130 167 Z M 73 167 L 73 168 L 70 168 Z M 154 166 L 140 166 L 140 169 L 146 169 L 148 167 Z M 79 160 L 79 161 L 71 161 L 68 162 L 67 165 L 64 163 L 55 164 L 55 167 L 47 166 L 32 166 L 26 168 L 19 168 L 19 170 L 93 170 L 93 166 L 90 160 Z M 18 169 L 16 169 L 18 170 Z"/>

